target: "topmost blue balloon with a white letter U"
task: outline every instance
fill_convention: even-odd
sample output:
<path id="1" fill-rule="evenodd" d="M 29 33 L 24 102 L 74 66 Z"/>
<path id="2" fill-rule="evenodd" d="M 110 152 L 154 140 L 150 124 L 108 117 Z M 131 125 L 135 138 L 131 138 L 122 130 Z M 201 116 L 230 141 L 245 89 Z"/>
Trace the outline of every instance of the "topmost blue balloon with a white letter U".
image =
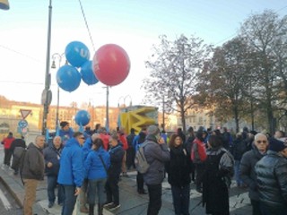
<path id="1" fill-rule="evenodd" d="M 83 42 L 73 41 L 65 47 L 66 60 L 75 67 L 81 67 L 90 59 L 90 51 Z"/>

